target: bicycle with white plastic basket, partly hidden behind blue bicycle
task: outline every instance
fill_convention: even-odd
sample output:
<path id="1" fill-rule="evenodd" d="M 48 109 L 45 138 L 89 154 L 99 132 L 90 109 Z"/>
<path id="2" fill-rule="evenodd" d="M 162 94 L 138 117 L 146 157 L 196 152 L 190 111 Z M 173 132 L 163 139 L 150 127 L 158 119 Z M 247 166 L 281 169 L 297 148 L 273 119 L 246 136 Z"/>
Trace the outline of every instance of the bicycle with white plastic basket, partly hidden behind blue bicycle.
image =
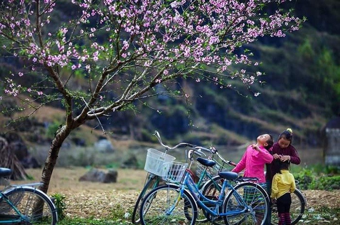
<path id="1" fill-rule="evenodd" d="M 153 154 L 153 153 L 161 154 L 159 156 L 158 163 L 162 163 L 162 161 L 165 161 L 165 160 L 173 161 L 175 159 L 174 157 L 172 157 L 172 156 L 167 154 L 168 150 L 174 150 L 174 149 L 177 149 L 177 148 L 180 148 L 180 147 L 191 147 L 191 148 L 193 148 L 193 147 L 196 146 L 196 145 L 193 145 L 193 144 L 182 142 L 182 143 L 179 143 L 179 144 L 177 144 L 177 145 L 175 145 L 173 147 L 169 147 L 168 145 L 163 144 L 162 138 L 161 138 L 161 136 L 159 135 L 159 133 L 157 131 L 155 131 L 153 135 L 158 139 L 160 145 L 165 148 L 164 153 L 161 153 L 161 152 L 159 152 L 157 150 L 152 150 L 152 149 L 148 150 L 149 154 Z M 148 158 L 147 158 L 147 160 L 148 160 Z M 139 224 L 139 222 L 140 222 L 140 219 L 139 219 L 139 209 L 140 209 L 140 203 L 142 202 L 143 197 L 150 190 L 153 190 L 154 188 L 158 187 L 159 183 L 161 181 L 162 172 L 161 171 L 155 171 L 154 165 L 153 165 L 152 168 L 150 168 L 150 167 L 148 167 L 148 165 L 146 163 L 146 167 L 144 169 L 146 171 L 148 171 L 148 174 L 147 174 L 147 177 L 146 177 L 146 181 L 145 181 L 144 187 L 143 187 L 143 189 L 141 190 L 140 194 L 137 197 L 137 200 L 136 200 L 136 203 L 135 203 L 135 207 L 134 207 L 134 210 L 132 212 L 131 221 L 134 224 Z"/>

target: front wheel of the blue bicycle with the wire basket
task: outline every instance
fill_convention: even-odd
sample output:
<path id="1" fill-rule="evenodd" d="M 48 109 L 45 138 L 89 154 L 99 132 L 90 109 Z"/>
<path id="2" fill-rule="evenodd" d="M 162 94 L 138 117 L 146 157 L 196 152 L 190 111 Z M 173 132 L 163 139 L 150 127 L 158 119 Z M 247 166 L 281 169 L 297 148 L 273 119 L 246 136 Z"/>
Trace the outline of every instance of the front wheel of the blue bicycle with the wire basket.
<path id="1" fill-rule="evenodd" d="M 169 184 L 159 186 L 145 196 L 140 207 L 142 225 L 194 225 L 197 205 L 187 190 Z"/>

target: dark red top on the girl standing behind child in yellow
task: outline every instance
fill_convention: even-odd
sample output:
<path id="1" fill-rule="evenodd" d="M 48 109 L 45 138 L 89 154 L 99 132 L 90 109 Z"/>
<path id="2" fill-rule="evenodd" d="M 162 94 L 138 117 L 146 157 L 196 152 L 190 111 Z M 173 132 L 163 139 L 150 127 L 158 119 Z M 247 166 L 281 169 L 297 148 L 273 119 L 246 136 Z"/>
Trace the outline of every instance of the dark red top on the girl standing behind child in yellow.
<path id="1" fill-rule="evenodd" d="M 297 153 L 294 146 L 289 145 L 287 148 L 281 149 L 279 143 L 274 143 L 272 146 L 271 154 L 278 154 L 278 155 L 289 155 L 290 162 L 296 165 L 301 163 L 299 154 Z M 266 172 L 266 180 L 270 180 L 272 182 L 272 177 L 278 173 L 280 170 L 279 159 L 274 159 L 271 164 L 267 164 L 267 172 Z"/>

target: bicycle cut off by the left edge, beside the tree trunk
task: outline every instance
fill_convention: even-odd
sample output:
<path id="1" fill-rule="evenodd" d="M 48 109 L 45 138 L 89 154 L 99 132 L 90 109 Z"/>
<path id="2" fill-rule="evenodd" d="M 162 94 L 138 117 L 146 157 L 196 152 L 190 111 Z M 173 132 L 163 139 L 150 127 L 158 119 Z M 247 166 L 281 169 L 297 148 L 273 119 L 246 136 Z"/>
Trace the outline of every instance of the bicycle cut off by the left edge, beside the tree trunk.
<path id="1" fill-rule="evenodd" d="M 0 167 L 0 178 L 8 177 L 11 173 L 11 169 Z M 0 225 L 57 224 L 58 215 L 53 201 L 34 188 L 40 184 L 10 185 L 0 191 Z"/>

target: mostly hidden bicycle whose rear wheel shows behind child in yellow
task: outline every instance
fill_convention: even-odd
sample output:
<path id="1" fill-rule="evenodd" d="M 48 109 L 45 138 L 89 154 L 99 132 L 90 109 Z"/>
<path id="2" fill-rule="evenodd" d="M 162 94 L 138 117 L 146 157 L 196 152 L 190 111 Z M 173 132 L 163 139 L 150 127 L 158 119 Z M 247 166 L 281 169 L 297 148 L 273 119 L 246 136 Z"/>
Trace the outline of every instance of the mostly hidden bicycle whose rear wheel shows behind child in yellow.
<path id="1" fill-rule="evenodd" d="M 222 164 L 219 165 L 219 167 L 224 167 L 224 165 L 232 165 L 236 166 L 235 163 L 231 161 L 225 160 L 216 150 L 214 147 L 210 148 L 211 150 L 211 155 L 210 157 L 213 159 L 214 155 L 218 156 L 218 159 L 221 160 Z M 215 178 L 215 182 L 219 182 L 219 178 Z M 298 180 L 295 181 L 298 183 Z M 209 184 L 207 184 L 209 185 Z M 211 185 L 211 184 L 210 184 Z M 216 185 L 211 185 L 212 187 Z M 291 225 L 295 225 L 299 222 L 299 220 L 302 218 L 306 208 L 306 199 L 304 195 L 301 193 L 299 189 L 295 189 L 293 193 L 291 193 L 291 206 L 290 206 L 290 219 L 291 219 Z M 271 224 L 272 225 L 277 225 L 278 223 L 278 216 L 277 216 L 277 208 L 276 205 L 271 206 Z"/>

